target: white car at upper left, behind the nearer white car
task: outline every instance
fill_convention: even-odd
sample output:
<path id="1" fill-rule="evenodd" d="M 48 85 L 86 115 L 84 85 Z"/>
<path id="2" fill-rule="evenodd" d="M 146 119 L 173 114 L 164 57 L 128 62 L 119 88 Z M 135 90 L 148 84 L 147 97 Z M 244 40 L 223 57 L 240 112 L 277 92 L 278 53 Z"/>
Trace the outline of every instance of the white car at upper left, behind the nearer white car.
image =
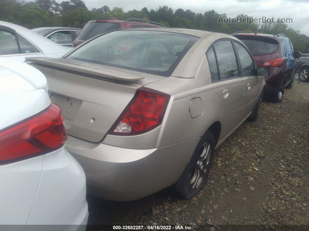
<path id="1" fill-rule="evenodd" d="M 24 62 L 26 57 L 60 58 L 73 47 L 64 47 L 34 31 L 0 21 L 0 60 Z"/>

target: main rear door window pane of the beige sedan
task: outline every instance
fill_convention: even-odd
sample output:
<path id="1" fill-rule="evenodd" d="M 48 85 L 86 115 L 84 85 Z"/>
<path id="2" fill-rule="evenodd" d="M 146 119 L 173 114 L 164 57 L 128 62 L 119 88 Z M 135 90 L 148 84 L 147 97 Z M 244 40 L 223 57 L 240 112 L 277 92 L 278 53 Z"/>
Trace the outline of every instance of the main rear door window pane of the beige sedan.
<path id="1" fill-rule="evenodd" d="M 213 47 L 217 55 L 220 80 L 238 77 L 236 56 L 231 41 L 220 41 Z"/>

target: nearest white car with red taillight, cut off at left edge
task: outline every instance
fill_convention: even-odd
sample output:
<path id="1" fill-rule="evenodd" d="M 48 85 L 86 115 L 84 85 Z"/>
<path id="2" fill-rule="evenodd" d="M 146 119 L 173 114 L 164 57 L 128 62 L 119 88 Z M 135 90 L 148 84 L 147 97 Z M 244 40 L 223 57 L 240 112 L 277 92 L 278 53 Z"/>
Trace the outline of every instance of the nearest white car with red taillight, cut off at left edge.
<path id="1" fill-rule="evenodd" d="M 64 149 L 61 109 L 47 91 L 40 71 L 0 59 L 0 225 L 85 229 L 85 173 Z"/>

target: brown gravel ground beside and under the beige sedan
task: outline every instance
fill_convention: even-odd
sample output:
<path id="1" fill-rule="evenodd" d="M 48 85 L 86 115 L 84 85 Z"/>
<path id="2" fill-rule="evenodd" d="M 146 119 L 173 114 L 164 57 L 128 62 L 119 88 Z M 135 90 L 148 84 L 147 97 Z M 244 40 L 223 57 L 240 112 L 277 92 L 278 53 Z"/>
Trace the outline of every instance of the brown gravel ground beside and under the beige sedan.
<path id="1" fill-rule="evenodd" d="M 87 196 L 87 230 L 103 225 L 193 225 L 197 230 L 309 230 L 309 83 L 295 79 L 281 103 L 261 103 L 216 151 L 201 193 L 180 200 L 167 188 L 113 202 Z M 237 226 L 238 225 L 238 226 Z"/>

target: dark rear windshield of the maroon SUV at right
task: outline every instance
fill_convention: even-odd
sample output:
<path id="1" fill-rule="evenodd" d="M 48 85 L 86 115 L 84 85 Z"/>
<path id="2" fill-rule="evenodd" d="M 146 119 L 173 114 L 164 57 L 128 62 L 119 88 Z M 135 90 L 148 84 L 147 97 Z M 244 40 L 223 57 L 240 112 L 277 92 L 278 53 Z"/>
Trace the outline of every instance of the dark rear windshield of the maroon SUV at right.
<path id="1" fill-rule="evenodd" d="M 275 39 L 259 36 L 235 36 L 249 49 L 253 56 L 266 55 L 277 51 L 278 42 Z"/>

